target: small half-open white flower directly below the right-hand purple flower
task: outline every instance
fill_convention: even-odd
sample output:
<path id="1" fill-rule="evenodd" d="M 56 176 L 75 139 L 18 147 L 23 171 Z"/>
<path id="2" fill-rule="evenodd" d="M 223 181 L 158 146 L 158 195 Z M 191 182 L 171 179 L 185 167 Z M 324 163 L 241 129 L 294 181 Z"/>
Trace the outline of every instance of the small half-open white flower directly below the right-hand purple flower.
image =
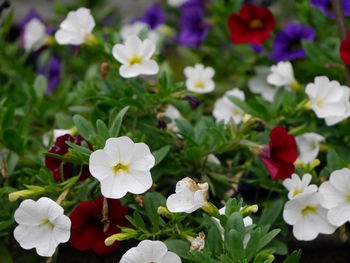
<path id="1" fill-rule="evenodd" d="M 289 61 L 279 62 L 277 65 L 272 65 L 271 73 L 267 76 L 267 83 L 281 87 L 292 87 L 295 85 L 293 66 Z"/>

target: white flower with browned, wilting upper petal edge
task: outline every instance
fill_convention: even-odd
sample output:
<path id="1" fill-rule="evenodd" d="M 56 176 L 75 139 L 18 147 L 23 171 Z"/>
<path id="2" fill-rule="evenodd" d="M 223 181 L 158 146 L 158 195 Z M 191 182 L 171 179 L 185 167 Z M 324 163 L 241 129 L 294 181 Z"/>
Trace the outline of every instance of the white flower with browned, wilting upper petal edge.
<path id="1" fill-rule="evenodd" d="M 177 182 L 175 194 L 168 197 L 166 206 L 173 213 L 192 213 L 207 203 L 207 193 L 208 183 L 197 184 L 186 177 Z"/>

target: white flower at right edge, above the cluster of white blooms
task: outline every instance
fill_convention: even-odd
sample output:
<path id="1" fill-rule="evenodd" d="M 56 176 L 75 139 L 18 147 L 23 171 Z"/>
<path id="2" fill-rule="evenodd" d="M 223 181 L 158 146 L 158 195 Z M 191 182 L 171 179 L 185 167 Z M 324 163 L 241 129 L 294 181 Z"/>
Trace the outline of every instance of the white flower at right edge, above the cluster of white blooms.
<path id="1" fill-rule="evenodd" d="M 305 89 L 311 108 L 319 118 L 326 118 L 327 125 L 333 125 L 346 118 L 350 112 L 349 88 L 327 77 L 315 78 Z"/>

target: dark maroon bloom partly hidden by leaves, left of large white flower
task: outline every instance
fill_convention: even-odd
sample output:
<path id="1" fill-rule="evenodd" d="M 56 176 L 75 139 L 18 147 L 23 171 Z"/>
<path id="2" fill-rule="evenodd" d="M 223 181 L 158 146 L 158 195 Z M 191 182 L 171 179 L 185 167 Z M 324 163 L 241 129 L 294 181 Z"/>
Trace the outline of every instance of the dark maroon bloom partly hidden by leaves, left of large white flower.
<path id="1" fill-rule="evenodd" d="M 62 135 L 60 137 L 57 137 L 55 141 L 55 145 L 52 146 L 48 150 L 48 152 L 68 157 L 68 154 L 69 154 L 68 149 L 70 147 L 68 144 L 66 144 L 66 141 L 70 141 L 77 145 L 81 145 L 82 141 L 84 141 L 84 138 L 81 137 L 80 135 L 76 137 L 73 137 L 70 134 Z M 71 178 L 72 176 L 78 175 L 80 171 L 79 166 L 77 167 L 72 163 L 63 162 L 62 160 L 56 159 L 51 156 L 45 156 L 45 165 L 49 170 L 52 171 L 53 178 L 56 182 L 63 182 Z M 61 165 L 62 165 L 63 174 L 61 174 Z M 87 165 L 84 165 L 81 169 L 82 169 L 82 172 L 81 172 L 79 181 L 88 178 L 90 175 L 89 167 Z"/>

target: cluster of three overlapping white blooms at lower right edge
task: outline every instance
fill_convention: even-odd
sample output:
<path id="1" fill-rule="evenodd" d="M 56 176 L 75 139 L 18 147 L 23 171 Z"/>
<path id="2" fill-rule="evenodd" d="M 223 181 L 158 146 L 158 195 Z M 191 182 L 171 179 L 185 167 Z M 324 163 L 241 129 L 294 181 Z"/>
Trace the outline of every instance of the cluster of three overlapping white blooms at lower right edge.
<path id="1" fill-rule="evenodd" d="M 295 238 L 304 241 L 313 240 L 318 234 L 332 234 L 350 221 L 350 170 L 332 172 L 329 181 L 319 189 L 309 185 L 310 181 L 310 174 L 302 180 L 293 174 L 283 182 L 290 199 L 284 206 L 283 218 L 293 226 Z"/>

